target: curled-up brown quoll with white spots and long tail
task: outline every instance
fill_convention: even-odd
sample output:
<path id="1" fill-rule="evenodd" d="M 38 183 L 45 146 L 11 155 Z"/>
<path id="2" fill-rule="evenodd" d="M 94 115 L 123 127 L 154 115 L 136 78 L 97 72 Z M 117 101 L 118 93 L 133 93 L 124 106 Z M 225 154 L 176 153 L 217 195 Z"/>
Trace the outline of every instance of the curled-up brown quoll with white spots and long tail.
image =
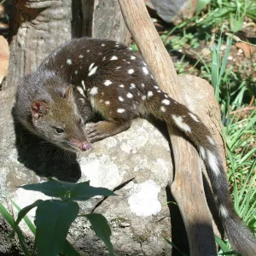
<path id="1" fill-rule="evenodd" d="M 71 151 L 87 150 L 90 143 L 125 131 L 139 115 L 153 114 L 176 126 L 195 144 L 207 166 L 233 248 L 244 256 L 256 255 L 253 234 L 232 206 L 209 130 L 199 116 L 160 90 L 142 57 L 125 45 L 98 38 L 61 45 L 22 79 L 14 110 L 26 129 Z M 87 124 L 95 113 L 104 120 Z"/>

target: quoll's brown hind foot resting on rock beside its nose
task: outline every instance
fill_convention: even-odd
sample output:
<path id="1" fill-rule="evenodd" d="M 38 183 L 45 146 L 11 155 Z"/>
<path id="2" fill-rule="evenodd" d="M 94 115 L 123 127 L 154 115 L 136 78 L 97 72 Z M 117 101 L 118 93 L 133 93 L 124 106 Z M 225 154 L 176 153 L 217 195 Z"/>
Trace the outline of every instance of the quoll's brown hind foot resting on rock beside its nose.
<path id="1" fill-rule="evenodd" d="M 90 143 L 95 143 L 106 137 L 111 137 L 119 132 L 129 129 L 131 120 L 129 121 L 100 121 L 97 123 L 88 123 L 85 127 L 87 137 Z"/>

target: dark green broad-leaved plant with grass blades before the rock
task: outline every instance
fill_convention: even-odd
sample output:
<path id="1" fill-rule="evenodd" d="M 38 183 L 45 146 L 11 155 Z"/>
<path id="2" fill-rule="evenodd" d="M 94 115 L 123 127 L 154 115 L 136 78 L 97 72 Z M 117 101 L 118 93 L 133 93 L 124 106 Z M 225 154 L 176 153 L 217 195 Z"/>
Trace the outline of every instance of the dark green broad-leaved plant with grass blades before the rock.
<path id="1" fill-rule="evenodd" d="M 36 248 L 38 255 L 79 255 L 72 245 L 66 240 L 67 232 L 75 220 L 75 218 L 85 217 L 90 221 L 92 228 L 96 231 L 102 241 L 108 247 L 110 255 L 113 255 L 113 246 L 110 241 L 111 230 L 108 226 L 108 221 L 101 214 L 90 213 L 79 216 L 79 204 L 76 201 L 86 201 L 95 195 L 114 195 L 111 190 L 104 188 L 94 188 L 89 182 L 85 183 L 67 183 L 60 182 L 55 179 L 50 179 L 44 183 L 34 183 L 20 186 L 22 189 L 40 191 L 44 195 L 59 197 L 61 200 L 38 200 L 30 206 L 20 209 L 15 202 L 14 206 L 19 210 L 16 221 L 9 214 L 5 207 L 0 203 L 0 212 L 3 217 L 9 222 L 13 228 L 13 232 L 9 236 L 14 236 L 17 233 L 20 240 L 23 252 L 30 255 L 26 248 L 25 238 L 22 234 L 19 224 L 21 219 L 26 221 L 28 227 L 35 234 Z M 33 207 L 38 207 L 36 210 L 35 225 L 26 217 L 26 213 Z"/>

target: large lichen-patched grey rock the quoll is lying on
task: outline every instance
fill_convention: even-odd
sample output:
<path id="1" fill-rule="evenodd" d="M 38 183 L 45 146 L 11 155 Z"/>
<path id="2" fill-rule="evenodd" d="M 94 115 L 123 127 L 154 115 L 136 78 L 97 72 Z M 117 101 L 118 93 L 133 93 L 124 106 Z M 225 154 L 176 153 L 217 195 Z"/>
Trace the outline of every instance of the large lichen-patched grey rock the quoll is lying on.
<path id="1" fill-rule="evenodd" d="M 189 108 L 206 120 L 214 133 L 213 137 L 218 137 L 217 142 L 220 143 L 215 121 L 209 117 L 209 104 L 218 116 L 212 86 L 193 76 L 180 78 L 180 83 Z M 96 204 L 101 198 L 80 203 L 81 212 L 93 210 L 108 219 L 115 255 L 172 254 L 171 247 L 162 237 L 171 234 L 167 205 L 170 199 L 166 196 L 166 186 L 172 181 L 172 158 L 165 125 L 156 123 L 160 128 L 156 129 L 152 120 L 136 119 L 128 131 L 94 143 L 89 152 L 76 156 L 43 143 L 19 125 L 14 129 L 11 116 L 13 99 L 8 90 L 0 92 L 0 147 L 3 148 L 0 151 L 1 194 L 11 197 L 20 207 L 26 207 L 47 196 L 17 187 L 40 182 L 49 175 L 73 182 L 90 180 L 90 184 L 96 187 L 119 187 L 115 192 L 118 196 L 108 197 L 99 205 Z M 10 204 L 5 206 L 11 211 Z M 32 219 L 34 214 L 29 212 L 29 218 Z M 11 252 L 11 243 L 5 238 L 8 226 L 1 225 L 0 254 Z M 20 227 L 26 236 L 32 237 L 24 223 Z M 74 221 L 68 240 L 81 255 L 108 255 L 107 248 L 84 218 Z M 14 240 L 12 243 L 16 244 Z"/>

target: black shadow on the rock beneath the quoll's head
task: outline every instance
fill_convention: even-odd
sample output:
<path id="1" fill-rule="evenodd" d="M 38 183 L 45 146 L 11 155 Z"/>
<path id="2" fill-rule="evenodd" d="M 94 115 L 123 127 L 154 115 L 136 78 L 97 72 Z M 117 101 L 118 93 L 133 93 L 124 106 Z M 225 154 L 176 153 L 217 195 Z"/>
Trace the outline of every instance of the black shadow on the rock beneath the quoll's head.
<path id="1" fill-rule="evenodd" d="M 41 177 L 56 177 L 67 182 L 77 182 L 81 169 L 75 153 L 67 152 L 27 131 L 15 119 L 15 145 L 18 160 Z"/>

